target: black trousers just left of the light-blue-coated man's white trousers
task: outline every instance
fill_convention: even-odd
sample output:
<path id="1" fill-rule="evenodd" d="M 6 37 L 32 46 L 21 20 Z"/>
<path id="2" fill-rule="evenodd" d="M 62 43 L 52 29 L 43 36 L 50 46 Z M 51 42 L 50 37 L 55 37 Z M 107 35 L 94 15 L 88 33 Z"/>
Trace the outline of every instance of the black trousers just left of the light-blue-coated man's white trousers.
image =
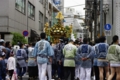
<path id="1" fill-rule="evenodd" d="M 37 66 L 28 66 L 29 77 L 38 76 L 38 67 Z"/>

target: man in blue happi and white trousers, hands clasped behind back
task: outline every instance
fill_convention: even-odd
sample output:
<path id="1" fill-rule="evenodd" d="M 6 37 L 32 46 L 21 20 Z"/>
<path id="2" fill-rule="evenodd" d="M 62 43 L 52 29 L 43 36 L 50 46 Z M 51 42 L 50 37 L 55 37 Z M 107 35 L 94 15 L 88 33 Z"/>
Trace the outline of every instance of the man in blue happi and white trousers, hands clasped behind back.
<path id="1" fill-rule="evenodd" d="M 83 39 L 83 44 L 78 47 L 77 57 L 81 60 L 80 80 L 91 80 L 92 58 L 94 50 L 88 45 L 88 39 Z"/>

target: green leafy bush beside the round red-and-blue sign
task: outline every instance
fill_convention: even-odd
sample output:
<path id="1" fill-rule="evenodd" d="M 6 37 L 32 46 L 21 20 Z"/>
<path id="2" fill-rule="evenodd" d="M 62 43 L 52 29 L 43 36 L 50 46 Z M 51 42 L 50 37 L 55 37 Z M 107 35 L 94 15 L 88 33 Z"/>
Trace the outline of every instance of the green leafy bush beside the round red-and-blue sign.
<path id="1" fill-rule="evenodd" d="M 27 43 L 27 40 L 22 34 L 17 33 L 17 32 L 14 32 L 12 34 L 13 34 L 12 45 L 16 45 L 17 42 L 22 42 L 23 44 Z"/>

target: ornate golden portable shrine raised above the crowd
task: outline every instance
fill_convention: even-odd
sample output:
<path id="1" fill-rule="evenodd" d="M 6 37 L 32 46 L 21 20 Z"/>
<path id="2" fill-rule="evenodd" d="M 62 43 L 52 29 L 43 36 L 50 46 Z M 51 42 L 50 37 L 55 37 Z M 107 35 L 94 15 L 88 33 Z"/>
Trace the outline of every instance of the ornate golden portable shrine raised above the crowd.
<path id="1" fill-rule="evenodd" d="M 63 26 L 63 19 L 64 16 L 62 15 L 62 12 L 58 12 L 56 19 L 58 22 L 53 25 L 52 27 L 49 27 L 49 24 L 45 24 L 45 33 L 47 36 L 50 36 L 50 40 L 53 43 L 58 43 L 59 39 L 61 37 L 66 37 L 68 38 L 68 34 L 71 35 L 72 33 L 72 25 L 69 27 L 69 30 L 66 30 L 66 28 Z"/>

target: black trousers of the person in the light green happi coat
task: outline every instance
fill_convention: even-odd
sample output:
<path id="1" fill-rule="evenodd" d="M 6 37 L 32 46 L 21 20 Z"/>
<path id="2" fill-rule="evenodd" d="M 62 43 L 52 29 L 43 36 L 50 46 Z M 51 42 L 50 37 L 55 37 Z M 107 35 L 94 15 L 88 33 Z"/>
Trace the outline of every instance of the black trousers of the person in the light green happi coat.
<path id="1" fill-rule="evenodd" d="M 68 77 L 69 77 L 70 74 L 71 74 L 71 79 L 70 80 L 74 80 L 75 67 L 64 67 L 65 80 L 68 80 Z"/>

